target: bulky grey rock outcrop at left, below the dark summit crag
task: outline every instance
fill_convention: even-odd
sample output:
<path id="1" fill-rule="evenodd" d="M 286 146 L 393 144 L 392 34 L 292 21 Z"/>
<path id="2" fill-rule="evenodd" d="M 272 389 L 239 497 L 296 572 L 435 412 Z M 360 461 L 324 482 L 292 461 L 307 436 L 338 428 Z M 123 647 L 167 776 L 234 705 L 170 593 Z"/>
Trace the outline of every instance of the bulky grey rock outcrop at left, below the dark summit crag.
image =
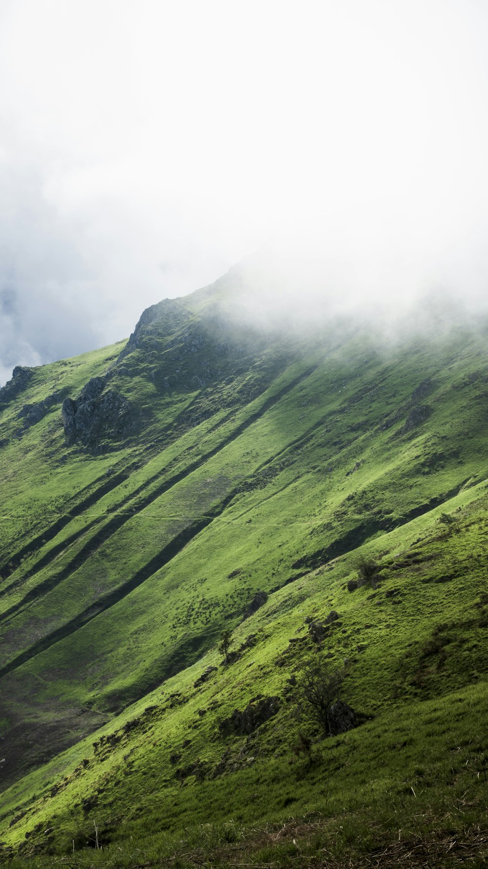
<path id="1" fill-rule="evenodd" d="M 76 400 L 63 401 L 61 417 L 69 443 L 80 441 L 97 450 L 102 448 L 102 441 L 120 441 L 134 428 L 132 404 L 115 389 L 103 393 L 105 383 L 103 377 L 93 377 Z"/>

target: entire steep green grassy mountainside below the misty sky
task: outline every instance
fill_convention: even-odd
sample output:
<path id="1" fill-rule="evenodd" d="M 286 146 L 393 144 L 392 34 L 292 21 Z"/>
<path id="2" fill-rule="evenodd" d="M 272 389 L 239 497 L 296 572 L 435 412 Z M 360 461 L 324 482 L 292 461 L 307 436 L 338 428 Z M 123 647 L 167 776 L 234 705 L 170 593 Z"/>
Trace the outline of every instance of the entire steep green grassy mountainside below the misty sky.
<path id="1" fill-rule="evenodd" d="M 0 389 L 0 853 L 482 866 L 488 322 L 265 328 L 245 291 Z"/>

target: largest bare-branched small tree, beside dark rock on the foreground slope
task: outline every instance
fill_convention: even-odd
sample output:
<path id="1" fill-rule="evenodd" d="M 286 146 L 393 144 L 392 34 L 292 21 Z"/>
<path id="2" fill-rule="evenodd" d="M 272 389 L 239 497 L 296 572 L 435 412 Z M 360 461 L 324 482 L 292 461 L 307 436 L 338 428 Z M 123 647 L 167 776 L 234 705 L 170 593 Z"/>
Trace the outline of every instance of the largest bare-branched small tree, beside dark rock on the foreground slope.
<path id="1" fill-rule="evenodd" d="M 329 713 L 340 698 L 345 676 L 344 667 L 333 667 L 320 657 L 310 660 L 300 674 L 301 700 L 306 704 L 310 718 L 326 736 L 330 733 Z"/>

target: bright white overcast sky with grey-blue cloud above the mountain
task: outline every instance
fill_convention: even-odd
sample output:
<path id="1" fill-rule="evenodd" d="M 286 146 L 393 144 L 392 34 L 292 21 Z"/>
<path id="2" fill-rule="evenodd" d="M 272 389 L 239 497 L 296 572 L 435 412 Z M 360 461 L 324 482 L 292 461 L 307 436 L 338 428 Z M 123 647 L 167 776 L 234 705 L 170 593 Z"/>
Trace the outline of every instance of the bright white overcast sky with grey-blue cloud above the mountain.
<path id="1" fill-rule="evenodd" d="M 0 0 L 0 383 L 276 234 L 484 298 L 487 44 L 485 0 Z"/>

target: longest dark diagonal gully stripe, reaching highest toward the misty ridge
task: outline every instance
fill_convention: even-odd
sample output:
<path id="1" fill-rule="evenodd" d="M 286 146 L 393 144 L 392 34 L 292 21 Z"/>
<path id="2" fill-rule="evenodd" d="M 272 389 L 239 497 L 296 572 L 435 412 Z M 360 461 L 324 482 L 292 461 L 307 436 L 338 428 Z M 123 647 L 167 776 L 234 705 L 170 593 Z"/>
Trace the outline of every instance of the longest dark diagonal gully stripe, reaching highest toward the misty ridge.
<path id="1" fill-rule="evenodd" d="M 313 365 L 311 368 L 307 368 L 304 372 L 302 372 L 297 377 L 293 378 L 293 381 L 287 383 L 286 386 L 281 388 L 275 395 L 270 395 L 266 401 L 262 403 L 260 408 L 254 411 L 253 414 L 249 415 L 246 420 L 242 421 L 239 426 L 234 428 L 234 431 L 228 434 L 226 438 L 224 438 L 219 444 L 217 444 L 214 448 L 208 450 L 207 453 L 201 454 L 198 459 L 190 462 L 186 468 L 183 468 L 178 474 L 174 474 L 172 477 L 169 477 L 168 480 L 161 483 L 160 486 L 157 486 L 155 489 L 152 489 L 151 492 L 146 494 L 143 498 L 141 498 L 136 503 L 131 503 L 130 512 L 119 513 L 109 519 L 105 525 L 100 528 L 99 531 L 96 532 L 92 537 L 90 537 L 89 541 L 85 543 L 85 545 L 80 549 L 80 551 L 75 555 L 75 557 L 69 561 L 66 567 L 63 567 L 63 570 L 60 570 L 58 573 L 49 576 L 48 579 L 39 582 L 35 588 L 31 589 L 30 592 L 16 603 L 13 607 L 10 607 L 9 610 L 6 610 L 2 617 L 0 618 L 0 623 L 4 620 L 9 619 L 13 615 L 19 612 L 19 610 L 23 609 L 23 607 L 28 606 L 34 600 L 38 600 L 43 594 L 48 594 L 53 588 L 56 588 L 61 582 L 67 580 L 70 574 L 75 573 L 79 567 L 88 561 L 89 557 L 93 555 L 96 550 L 101 547 L 104 543 L 106 543 L 112 534 L 115 534 L 126 522 L 128 522 L 134 514 L 139 513 L 141 510 L 149 507 L 154 501 L 161 497 L 162 494 L 168 492 L 170 488 L 173 488 L 177 483 L 181 482 L 185 479 L 189 474 L 193 474 L 195 470 L 201 468 L 206 461 L 212 459 L 214 455 L 221 452 L 222 449 L 228 446 L 229 443 L 232 443 L 236 438 L 238 438 L 243 432 L 246 431 L 249 426 L 253 425 L 254 422 L 257 422 L 260 419 L 260 416 L 267 413 L 267 410 L 272 408 L 274 404 L 280 401 L 288 392 L 290 392 L 293 388 L 298 386 L 298 384 L 306 380 L 307 377 L 313 374 L 313 371 L 316 370 L 318 366 Z M 236 489 L 238 491 L 238 489 Z M 234 496 L 234 495 L 233 495 Z M 128 501 L 129 504 L 129 501 Z M 44 566 L 44 565 L 43 565 Z M 36 570 L 33 570 L 29 575 L 32 576 L 36 573 Z M 0 670 L 0 675 L 2 671 Z"/>

